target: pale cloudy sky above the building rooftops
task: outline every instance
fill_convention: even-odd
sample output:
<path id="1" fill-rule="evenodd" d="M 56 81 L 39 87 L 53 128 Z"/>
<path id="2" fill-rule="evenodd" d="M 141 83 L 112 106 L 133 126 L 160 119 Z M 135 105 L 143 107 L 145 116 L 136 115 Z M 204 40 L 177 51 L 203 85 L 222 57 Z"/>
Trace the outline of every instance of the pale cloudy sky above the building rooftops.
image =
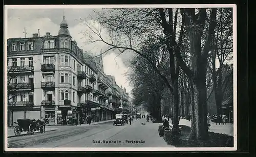
<path id="1" fill-rule="evenodd" d="M 25 27 L 28 33 L 26 37 L 32 37 L 32 34 L 37 33 L 38 29 L 40 29 L 40 36 L 44 36 L 46 32 L 57 35 L 59 23 L 65 14 L 70 34 L 80 48 L 99 54 L 100 49 L 106 47 L 99 42 L 88 45 L 83 35 L 80 34 L 81 31 L 86 30 L 86 27 L 81 25 L 80 18 L 88 20 L 89 16 L 94 15 L 93 9 L 8 9 L 7 13 L 7 38 L 25 37 L 23 33 Z M 125 87 L 126 91 L 130 93 L 132 87 L 124 73 L 128 70 L 126 63 L 131 58 L 131 54 L 117 55 L 116 51 L 103 55 L 104 72 L 114 75 L 117 84 Z"/>

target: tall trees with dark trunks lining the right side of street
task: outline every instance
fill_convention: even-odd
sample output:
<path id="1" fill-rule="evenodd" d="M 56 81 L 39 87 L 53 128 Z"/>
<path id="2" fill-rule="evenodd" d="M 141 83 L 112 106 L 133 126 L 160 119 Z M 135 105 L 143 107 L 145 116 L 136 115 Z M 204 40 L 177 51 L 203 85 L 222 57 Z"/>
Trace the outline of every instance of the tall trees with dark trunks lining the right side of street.
<path id="1" fill-rule="evenodd" d="M 222 114 L 223 73 L 232 69 L 232 8 L 103 9 L 92 19 L 101 27 L 84 22 L 84 36 L 107 45 L 103 53 L 137 54 L 129 72 L 135 103 L 157 120 L 161 102 L 172 108 L 173 134 L 179 114 L 191 113 L 189 140 L 207 140 L 207 100 L 214 94 Z"/>

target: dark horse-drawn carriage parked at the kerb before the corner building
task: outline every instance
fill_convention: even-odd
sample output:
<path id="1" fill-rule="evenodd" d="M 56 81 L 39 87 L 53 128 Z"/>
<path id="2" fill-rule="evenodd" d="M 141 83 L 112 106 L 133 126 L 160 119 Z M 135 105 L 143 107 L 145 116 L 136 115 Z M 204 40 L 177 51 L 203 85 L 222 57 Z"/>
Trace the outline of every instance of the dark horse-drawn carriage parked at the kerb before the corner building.
<path id="1" fill-rule="evenodd" d="M 18 124 L 14 127 L 14 134 L 16 136 L 19 136 L 23 132 L 27 132 L 30 135 L 33 135 L 35 131 L 44 133 L 45 125 L 47 124 L 46 122 L 35 119 L 17 119 L 17 122 L 14 123 Z"/>

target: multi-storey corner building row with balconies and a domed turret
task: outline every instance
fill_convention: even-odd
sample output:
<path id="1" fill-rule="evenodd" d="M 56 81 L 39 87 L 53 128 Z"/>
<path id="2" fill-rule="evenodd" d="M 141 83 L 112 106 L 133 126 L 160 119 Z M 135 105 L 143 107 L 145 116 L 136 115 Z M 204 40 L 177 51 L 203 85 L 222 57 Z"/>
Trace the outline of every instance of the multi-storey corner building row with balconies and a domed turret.
<path id="1" fill-rule="evenodd" d="M 95 62 L 84 59 L 65 17 L 56 36 L 8 39 L 7 54 L 8 126 L 21 118 L 43 117 L 49 125 L 89 115 L 94 121 L 114 118 L 112 82 Z"/>

